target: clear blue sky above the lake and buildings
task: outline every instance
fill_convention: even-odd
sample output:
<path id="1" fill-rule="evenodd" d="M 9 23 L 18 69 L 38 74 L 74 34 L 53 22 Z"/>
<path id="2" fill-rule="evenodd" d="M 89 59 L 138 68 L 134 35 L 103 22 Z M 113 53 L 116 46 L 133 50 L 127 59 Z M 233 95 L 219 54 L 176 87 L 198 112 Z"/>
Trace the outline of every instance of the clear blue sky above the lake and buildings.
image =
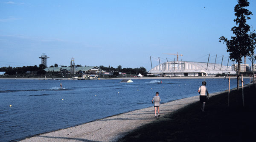
<path id="1" fill-rule="evenodd" d="M 256 29 L 256 1 L 247 24 Z M 145 67 L 176 58 L 227 65 L 236 0 L 0 0 L 0 67 Z M 179 57 L 180 59 L 180 57 Z M 247 63 L 249 60 L 247 59 Z M 230 64 L 230 63 L 229 63 Z"/>

